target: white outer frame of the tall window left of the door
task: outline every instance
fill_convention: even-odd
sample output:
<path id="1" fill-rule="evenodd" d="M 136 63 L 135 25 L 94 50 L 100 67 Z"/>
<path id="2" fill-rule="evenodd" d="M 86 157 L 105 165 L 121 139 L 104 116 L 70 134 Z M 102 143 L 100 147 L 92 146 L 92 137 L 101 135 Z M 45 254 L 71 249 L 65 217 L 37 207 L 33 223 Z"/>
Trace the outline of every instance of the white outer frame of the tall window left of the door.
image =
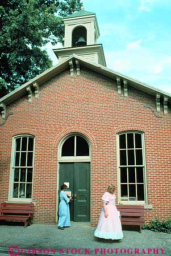
<path id="1" fill-rule="evenodd" d="M 34 185 L 34 162 L 35 162 L 35 136 L 29 134 L 21 134 L 12 137 L 12 149 L 11 149 L 11 168 L 10 168 L 10 181 L 9 181 L 9 202 L 32 202 L 31 198 L 14 198 L 13 197 L 13 184 L 14 184 L 14 161 L 15 161 L 15 143 L 16 139 L 21 137 L 32 137 L 34 138 L 34 148 L 33 148 L 33 160 L 32 160 L 32 192 L 33 194 L 33 185 Z"/>

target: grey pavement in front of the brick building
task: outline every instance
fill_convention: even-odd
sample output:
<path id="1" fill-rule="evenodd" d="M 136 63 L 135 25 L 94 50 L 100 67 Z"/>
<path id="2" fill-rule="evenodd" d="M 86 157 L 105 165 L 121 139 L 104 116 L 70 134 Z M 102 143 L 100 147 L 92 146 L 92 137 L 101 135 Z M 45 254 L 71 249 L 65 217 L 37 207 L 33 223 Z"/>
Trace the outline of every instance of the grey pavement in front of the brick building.
<path id="1" fill-rule="evenodd" d="M 94 237 L 94 227 L 77 224 L 65 230 L 56 225 L 0 225 L 0 256 L 9 255 L 10 246 L 17 246 L 13 255 L 171 255 L 171 235 L 149 230 L 123 231 L 122 242 Z M 18 249 L 19 247 L 19 249 Z M 22 250 L 23 249 L 23 250 Z M 27 249 L 27 254 L 26 250 Z M 80 249 L 80 250 L 79 250 Z"/>

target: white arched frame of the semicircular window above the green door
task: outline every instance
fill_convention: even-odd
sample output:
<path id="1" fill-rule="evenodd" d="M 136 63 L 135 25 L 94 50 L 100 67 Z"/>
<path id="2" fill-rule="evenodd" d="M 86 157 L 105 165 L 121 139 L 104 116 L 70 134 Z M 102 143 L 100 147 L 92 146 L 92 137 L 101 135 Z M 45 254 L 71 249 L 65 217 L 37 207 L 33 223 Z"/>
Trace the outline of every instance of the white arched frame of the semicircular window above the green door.
<path id="1" fill-rule="evenodd" d="M 61 156 L 62 155 L 62 146 L 64 145 L 65 141 L 69 138 L 69 137 L 74 137 L 74 156 Z M 76 136 L 80 136 L 83 139 L 86 140 L 87 144 L 89 145 L 89 156 L 76 156 Z M 87 140 L 87 138 L 82 135 L 81 133 L 70 133 L 69 135 L 66 135 L 60 142 L 59 145 L 59 155 L 58 155 L 58 160 L 60 162 L 80 162 L 80 161 L 84 161 L 84 162 L 90 162 L 91 161 L 91 144 L 89 142 L 89 140 Z"/>

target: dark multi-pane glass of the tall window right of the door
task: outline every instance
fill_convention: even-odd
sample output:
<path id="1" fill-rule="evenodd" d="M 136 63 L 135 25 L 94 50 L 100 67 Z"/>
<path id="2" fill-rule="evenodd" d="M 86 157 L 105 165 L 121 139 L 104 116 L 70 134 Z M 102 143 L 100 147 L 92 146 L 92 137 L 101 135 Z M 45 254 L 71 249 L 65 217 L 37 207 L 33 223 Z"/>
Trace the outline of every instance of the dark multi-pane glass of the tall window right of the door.
<path id="1" fill-rule="evenodd" d="M 119 144 L 119 201 L 145 202 L 144 136 L 140 132 L 124 132 Z"/>

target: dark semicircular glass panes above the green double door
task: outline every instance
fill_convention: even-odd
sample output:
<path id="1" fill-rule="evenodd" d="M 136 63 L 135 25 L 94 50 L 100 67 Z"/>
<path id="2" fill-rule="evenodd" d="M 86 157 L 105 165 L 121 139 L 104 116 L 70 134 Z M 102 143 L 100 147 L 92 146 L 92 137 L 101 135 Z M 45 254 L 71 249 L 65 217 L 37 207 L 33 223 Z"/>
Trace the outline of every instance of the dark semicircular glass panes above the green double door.
<path id="1" fill-rule="evenodd" d="M 81 156 L 90 156 L 90 149 L 87 140 L 79 135 L 70 136 L 62 145 L 61 157 Z"/>

